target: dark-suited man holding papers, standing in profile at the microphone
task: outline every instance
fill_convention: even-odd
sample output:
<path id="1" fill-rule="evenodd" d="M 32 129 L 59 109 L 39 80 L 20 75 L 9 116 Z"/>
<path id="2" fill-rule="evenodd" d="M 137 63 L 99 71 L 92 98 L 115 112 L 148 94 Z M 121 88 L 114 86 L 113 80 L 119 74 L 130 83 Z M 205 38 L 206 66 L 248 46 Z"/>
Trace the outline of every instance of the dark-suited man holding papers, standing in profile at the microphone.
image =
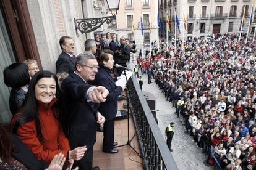
<path id="1" fill-rule="evenodd" d="M 117 153 L 118 150 L 113 148 L 117 145 L 114 142 L 114 118 L 116 118 L 117 113 L 117 97 L 121 95 L 121 92 L 126 88 L 121 86 L 116 86 L 115 80 L 111 75 L 109 75 L 110 70 L 113 68 L 114 52 L 111 50 L 106 50 L 100 56 L 98 56 L 98 63 L 100 68 L 95 76 L 95 81 L 93 84 L 97 86 L 104 86 L 108 89 L 109 94 L 106 97 L 106 102 L 100 103 L 98 111 L 105 116 L 104 123 L 104 138 L 103 138 L 103 152 L 107 153 Z"/>

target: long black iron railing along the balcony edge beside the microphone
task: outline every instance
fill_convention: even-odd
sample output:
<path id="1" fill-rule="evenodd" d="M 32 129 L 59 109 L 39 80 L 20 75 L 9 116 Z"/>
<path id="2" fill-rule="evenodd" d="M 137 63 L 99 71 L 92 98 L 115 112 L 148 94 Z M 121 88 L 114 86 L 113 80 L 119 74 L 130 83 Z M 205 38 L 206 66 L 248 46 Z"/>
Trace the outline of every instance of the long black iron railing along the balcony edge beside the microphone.
<path id="1" fill-rule="evenodd" d="M 143 168 L 178 169 L 134 75 L 127 82 L 127 90 Z"/>

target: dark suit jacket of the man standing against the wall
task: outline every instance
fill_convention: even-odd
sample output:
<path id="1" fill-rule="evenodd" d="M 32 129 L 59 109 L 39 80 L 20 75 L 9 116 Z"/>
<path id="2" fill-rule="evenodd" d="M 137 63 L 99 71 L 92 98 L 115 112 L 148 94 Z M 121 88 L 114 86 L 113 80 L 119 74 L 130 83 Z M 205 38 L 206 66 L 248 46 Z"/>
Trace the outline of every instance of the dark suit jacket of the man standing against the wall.
<path id="1" fill-rule="evenodd" d="M 75 55 L 74 55 L 75 57 Z M 75 61 L 70 57 L 69 54 L 62 51 L 56 61 L 56 73 L 74 73 L 75 71 Z"/>

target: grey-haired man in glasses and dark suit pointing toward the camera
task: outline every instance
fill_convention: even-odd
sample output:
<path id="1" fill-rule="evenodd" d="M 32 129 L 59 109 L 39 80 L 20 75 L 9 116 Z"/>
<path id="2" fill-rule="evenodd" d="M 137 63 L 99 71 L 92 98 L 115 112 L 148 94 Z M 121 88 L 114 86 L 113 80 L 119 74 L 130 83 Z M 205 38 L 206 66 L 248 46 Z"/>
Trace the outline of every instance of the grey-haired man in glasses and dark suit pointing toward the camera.
<path id="1" fill-rule="evenodd" d="M 103 86 L 95 87 L 87 83 L 95 79 L 97 72 L 95 55 L 84 52 L 77 56 L 74 73 L 70 73 L 61 85 L 64 95 L 62 116 L 70 148 L 87 146 L 85 156 L 76 162 L 79 169 L 96 169 L 92 168 L 96 128 L 97 123 L 103 126 L 105 122 L 104 116 L 96 109 L 98 103 L 106 101 L 108 90 Z"/>

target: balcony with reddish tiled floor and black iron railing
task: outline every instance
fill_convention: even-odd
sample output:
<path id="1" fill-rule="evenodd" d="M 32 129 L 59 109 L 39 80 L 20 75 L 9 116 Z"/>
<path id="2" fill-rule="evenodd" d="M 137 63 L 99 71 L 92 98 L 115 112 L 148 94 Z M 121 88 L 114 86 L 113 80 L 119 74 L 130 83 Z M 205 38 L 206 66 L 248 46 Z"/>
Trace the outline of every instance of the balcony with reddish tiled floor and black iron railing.
<path id="1" fill-rule="evenodd" d="M 98 144 L 101 143 L 98 141 L 102 141 L 103 134 L 98 132 L 93 165 L 107 169 L 178 169 L 140 90 L 139 83 L 132 81 L 132 79 L 136 79 L 134 75 L 127 82 L 130 102 L 129 134 L 136 134 L 131 145 L 139 152 L 139 155 L 133 152 L 128 145 L 118 147 L 119 153 L 114 155 L 101 152 L 102 144 Z M 127 119 L 116 121 L 115 126 L 116 141 L 120 145 L 126 144 Z M 129 156 L 132 156 L 139 163 L 130 161 Z"/>

